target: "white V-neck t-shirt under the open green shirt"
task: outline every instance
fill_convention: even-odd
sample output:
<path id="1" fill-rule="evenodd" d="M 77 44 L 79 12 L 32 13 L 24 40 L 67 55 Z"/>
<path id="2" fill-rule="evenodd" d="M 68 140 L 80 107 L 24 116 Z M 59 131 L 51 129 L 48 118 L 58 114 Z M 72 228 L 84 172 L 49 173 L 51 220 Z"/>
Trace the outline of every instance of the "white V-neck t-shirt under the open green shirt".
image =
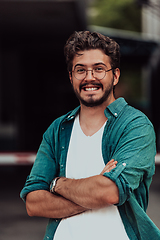
<path id="1" fill-rule="evenodd" d="M 105 124 L 104 124 L 105 126 Z M 86 178 L 100 174 L 105 164 L 102 157 L 101 142 L 104 126 L 92 136 L 86 136 L 76 117 L 71 134 L 66 162 L 66 177 Z M 129 240 L 116 206 L 91 210 L 63 219 L 54 240 Z"/>

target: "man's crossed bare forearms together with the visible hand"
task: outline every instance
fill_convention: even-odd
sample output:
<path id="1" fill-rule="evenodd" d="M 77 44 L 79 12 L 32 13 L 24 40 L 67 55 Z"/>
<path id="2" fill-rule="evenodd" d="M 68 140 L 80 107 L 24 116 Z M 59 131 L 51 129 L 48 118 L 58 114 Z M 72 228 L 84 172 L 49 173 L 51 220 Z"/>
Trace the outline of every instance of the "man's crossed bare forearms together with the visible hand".
<path id="1" fill-rule="evenodd" d="M 55 191 L 59 196 L 46 190 L 28 193 L 26 209 L 29 216 L 46 218 L 68 218 L 87 210 L 99 209 L 119 202 L 116 184 L 103 176 L 116 167 L 113 159 L 99 175 L 83 179 L 62 177 L 57 181 Z"/>

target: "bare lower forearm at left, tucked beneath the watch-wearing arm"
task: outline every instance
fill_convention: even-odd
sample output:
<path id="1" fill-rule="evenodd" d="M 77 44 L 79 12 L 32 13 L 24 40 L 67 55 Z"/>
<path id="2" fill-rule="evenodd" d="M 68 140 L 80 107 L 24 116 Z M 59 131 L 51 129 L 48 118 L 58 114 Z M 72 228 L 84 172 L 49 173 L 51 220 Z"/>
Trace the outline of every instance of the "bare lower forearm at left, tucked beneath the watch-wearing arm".
<path id="1" fill-rule="evenodd" d="M 45 190 L 30 192 L 26 197 L 29 216 L 67 218 L 86 211 L 85 208 Z"/>

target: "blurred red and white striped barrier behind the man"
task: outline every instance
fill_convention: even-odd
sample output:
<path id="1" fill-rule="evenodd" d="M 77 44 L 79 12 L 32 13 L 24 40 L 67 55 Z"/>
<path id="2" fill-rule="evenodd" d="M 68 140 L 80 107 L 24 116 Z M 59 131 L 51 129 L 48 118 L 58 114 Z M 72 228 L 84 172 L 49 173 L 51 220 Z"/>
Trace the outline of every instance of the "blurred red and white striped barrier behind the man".
<path id="1" fill-rule="evenodd" d="M 36 153 L 30 152 L 0 153 L 0 165 L 29 165 L 35 158 Z M 155 163 L 160 164 L 160 153 L 156 155 Z"/>

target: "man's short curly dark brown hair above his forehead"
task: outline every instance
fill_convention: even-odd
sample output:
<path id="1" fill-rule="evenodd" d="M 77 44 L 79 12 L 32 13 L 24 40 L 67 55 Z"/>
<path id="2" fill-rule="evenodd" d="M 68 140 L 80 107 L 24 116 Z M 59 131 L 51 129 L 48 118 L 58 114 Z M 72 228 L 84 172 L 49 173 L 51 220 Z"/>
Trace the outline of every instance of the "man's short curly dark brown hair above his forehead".
<path id="1" fill-rule="evenodd" d="M 67 40 L 64 47 L 67 69 L 72 71 L 74 56 L 80 51 L 100 49 L 110 57 L 110 64 L 113 69 L 120 67 L 120 47 L 113 39 L 97 32 L 75 31 Z"/>

